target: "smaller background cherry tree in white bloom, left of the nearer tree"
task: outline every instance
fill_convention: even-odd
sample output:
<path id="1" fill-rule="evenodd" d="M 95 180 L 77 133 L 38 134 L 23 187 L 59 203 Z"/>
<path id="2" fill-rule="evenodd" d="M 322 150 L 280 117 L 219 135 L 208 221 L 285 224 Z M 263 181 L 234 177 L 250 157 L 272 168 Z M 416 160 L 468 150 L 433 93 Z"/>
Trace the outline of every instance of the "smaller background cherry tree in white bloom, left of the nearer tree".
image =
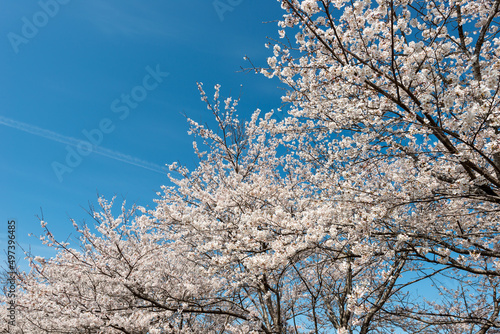
<path id="1" fill-rule="evenodd" d="M 100 199 L 95 230 L 75 228 L 81 249 L 32 258 L 20 277 L 19 326 L 27 333 L 305 333 L 393 326 L 380 309 L 401 307 L 409 271 L 392 252 L 345 223 L 362 206 L 338 206 L 315 185 L 309 164 L 269 134 L 272 114 L 241 125 L 237 101 L 203 90 L 218 131 L 200 138 L 194 171 L 178 167 L 157 207 L 112 214 Z M 196 143 L 196 142 L 195 142 Z M 202 151 L 198 146 L 204 147 Z M 282 148 L 284 153 L 278 154 Z M 288 152 L 288 153 L 287 153 Z M 379 254 L 380 256 L 369 256 Z M 369 314 L 366 315 L 366 311 Z"/>

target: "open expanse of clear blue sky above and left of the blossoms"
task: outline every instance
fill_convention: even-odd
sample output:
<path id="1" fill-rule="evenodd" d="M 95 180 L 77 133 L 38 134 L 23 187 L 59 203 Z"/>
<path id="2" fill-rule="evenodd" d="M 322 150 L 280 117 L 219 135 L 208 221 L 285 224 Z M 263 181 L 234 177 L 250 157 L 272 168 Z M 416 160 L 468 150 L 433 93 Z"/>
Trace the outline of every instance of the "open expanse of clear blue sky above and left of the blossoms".
<path id="1" fill-rule="evenodd" d="M 278 28 L 263 22 L 281 15 L 273 0 L 0 0 L 1 248 L 15 218 L 19 243 L 50 255 L 28 237 L 36 215 L 65 239 L 97 193 L 154 205 L 161 166 L 196 162 L 183 114 L 211 119 L 196 82 L 241 92 L 243 117 L 279 107 L 279 83 L 240 66 L 265 64 Z"/>

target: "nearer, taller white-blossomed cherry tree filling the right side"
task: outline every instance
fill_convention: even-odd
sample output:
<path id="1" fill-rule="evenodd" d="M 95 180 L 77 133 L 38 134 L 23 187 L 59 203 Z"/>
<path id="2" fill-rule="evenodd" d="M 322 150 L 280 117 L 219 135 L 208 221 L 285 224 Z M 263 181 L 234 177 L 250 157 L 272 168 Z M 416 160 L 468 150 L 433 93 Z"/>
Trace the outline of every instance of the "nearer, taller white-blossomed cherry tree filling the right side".
<path id="1" fill-rule="evenodd" d="M 281 3 L 262 70 L 289 87 L 278 131 L 320 179 L 342 175 L 336 197 L 373 208 L 369 233 L 458 282 L 404 317 L 498 328 L 500 2 Z"/>

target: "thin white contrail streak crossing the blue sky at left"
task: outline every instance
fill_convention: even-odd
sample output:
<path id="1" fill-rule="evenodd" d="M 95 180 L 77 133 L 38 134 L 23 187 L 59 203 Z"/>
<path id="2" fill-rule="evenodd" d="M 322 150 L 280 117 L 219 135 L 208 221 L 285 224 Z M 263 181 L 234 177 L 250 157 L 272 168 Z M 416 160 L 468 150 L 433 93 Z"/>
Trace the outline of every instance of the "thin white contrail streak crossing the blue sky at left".
<path id="1" fill-rule="evenodd" d="M 19 121 L 16 121 L 16 120 L 4 117 L 4 116 L 0 116 L 0 124 L 3 124 L 5 126 L 11 127 L 11 128 L 17 129 L 17 130 L 21 130 L 23 132 L 30 133 L 30 134 L 38 136 L 38 137 L 46 138 L 46 139 L 49 139 L 49 140 L 52 140 L 52 141 L 55 141 L 58 143 L 67 144 L 67 145 L 71 145 L 74 147 L 81 145 L 82 143 L 87 143 L 87 142 L 84 142 L 82 140 L 79 140 L 79 139 L 76 139 L 73 137 L 64 136 L 64 135 L 61 135 L 59 133 L 56 133 L 56 132 L 53 132 L 50 130 L 42 129 L 38 126 L 19 122 Z M 102 155 L 102 156 L 105 156 L 107 158 L 113 159 L 113 160 L 127 163 L 129 165 L 134 165 L 137 167 L 148 169 L 148 170 L 151 170 L 153 172 L 160 173 L 160 174 L 165 174 L 165 170 L 166 170 L 165 167 L 162 167 L 160 165 L 157 165 L 155 163 L 152 163 L 152 162 L 149 162 L 146 160 L 142 160 L 142 159 L 133 157 L 131 155 L 123 154 L 123 153 L 118 152 L 118 151 L 110 150 L 110 149 L 107 149 L 107 148 L 104 148 L 101 146 L 93 146 L 92 152 L 99 154 L 99 155 Z"/>

